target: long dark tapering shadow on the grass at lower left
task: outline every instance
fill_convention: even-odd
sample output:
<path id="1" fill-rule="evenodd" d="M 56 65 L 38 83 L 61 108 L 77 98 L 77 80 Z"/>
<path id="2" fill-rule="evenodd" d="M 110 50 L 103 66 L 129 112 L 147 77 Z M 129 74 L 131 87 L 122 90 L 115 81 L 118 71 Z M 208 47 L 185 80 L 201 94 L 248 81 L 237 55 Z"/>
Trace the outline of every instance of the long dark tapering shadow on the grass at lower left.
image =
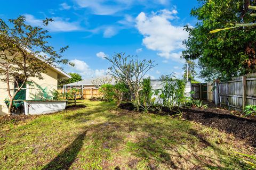
<path id="1" fill-rule="evenodd" d="M 42 169 L 68 169 L 75 161 L 78 152 L 81 150 L 86 133 L 87 130 L 79 134 L 65 150 L 60 152 L 57 157 Z"/>

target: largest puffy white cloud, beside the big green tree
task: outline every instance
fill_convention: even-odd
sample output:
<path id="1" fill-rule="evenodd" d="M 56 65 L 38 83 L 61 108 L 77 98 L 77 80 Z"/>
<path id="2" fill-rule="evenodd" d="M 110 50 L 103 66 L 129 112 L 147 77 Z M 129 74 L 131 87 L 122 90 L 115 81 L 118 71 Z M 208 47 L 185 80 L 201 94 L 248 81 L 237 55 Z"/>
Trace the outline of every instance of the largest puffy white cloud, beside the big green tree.
<path id="1" fill-rule="evenodd" d="M 170 20 L 177 19 L 177 10 L 161 10 L 147 16 L 141 12 L 136 18 L 136 27 L 144 36 L 143 45 L 157 51 L 157 55 L 181 61 L 182 41 L 188 38 L 183 27 L 174 26 Z"/>

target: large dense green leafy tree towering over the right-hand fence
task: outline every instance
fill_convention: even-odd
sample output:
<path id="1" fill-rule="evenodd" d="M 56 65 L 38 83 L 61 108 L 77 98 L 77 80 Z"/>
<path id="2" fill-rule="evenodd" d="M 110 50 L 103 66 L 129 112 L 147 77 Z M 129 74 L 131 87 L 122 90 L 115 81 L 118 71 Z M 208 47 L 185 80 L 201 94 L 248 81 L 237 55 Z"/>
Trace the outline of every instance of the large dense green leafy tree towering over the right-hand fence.
<path id="1" fill-rule="evenodd" d="M 255 22 L 247 4 L 252 0 L 198 0 L 199 7 L 191 10 L 198 23 L 185 26 L 189 38 L 183 41 L 186 50 L 182 56 L 187 60 L 198 59 L 200 77 L 206 81 L 229 80 L 255 70 L 254 53 L 256 29 L 250 27 L 210 33 L 211 30 L 233 27 L 236 23 Z M 251 64 L 251 65 L 250 65 Z"/>

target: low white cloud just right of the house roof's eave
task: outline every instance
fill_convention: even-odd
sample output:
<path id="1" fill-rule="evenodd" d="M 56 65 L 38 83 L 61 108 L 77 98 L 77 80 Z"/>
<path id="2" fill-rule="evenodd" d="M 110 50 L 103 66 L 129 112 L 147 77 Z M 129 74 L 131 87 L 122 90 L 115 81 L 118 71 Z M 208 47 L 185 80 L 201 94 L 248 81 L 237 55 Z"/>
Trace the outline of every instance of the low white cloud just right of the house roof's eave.
<path id="1" fill-rule="evenodd" d="M 91 69 L 90 66 L 82 60 L 75 59 L 71 60 L 71 62 L 73 62 L 75 66 L 68 66 L 67 71 L 79 73 L 82 75 L 83 79 L 102 77 L 107 73 L 107 70 L 104 69 Z"/>

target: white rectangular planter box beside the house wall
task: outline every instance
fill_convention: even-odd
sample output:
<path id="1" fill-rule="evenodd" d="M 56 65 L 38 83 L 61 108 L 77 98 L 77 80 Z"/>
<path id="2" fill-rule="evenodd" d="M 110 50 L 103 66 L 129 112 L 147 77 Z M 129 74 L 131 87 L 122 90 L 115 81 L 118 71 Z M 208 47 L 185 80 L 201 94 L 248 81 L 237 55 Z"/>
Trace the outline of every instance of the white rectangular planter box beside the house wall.
<path id="1" fill-rule="evenodd" d="M 41 115 L 63 111 L 66 101 L 24 101 L 26 115 Z"/>

